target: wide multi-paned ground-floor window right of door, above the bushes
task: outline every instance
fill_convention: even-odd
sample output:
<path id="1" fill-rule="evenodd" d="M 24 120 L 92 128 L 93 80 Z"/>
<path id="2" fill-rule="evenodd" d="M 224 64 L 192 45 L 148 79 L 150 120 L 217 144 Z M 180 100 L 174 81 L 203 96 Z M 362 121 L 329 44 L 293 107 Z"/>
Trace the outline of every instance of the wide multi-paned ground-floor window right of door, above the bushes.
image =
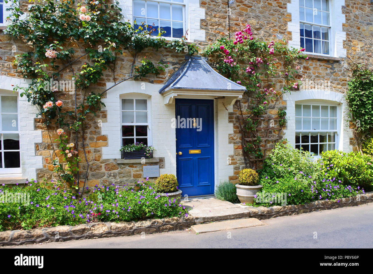
<path id="1" fill-rule="evenodd" d="M 314 156 L 336 149 L 337 106 L 319 104 L 295 105 L 295 148 Z"/>

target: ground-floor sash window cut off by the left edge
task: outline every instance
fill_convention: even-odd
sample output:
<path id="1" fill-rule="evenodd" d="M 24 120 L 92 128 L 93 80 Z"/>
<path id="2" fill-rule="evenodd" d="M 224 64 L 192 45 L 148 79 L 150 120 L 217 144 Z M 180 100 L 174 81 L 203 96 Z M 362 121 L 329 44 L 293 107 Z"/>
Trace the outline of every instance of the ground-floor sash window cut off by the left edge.
<path id="1" fill-rule="evenodd" d="M 17 96 L 0 96 L 0 173 L 20 172 Z"/>

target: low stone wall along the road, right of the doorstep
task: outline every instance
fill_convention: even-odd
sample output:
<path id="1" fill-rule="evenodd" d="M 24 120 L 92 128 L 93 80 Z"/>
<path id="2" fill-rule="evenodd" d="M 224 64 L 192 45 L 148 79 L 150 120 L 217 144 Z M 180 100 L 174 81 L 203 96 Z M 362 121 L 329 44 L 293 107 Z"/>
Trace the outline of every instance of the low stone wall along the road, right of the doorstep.
<path id="1" fill-rule="evenodd" d="M 312 211 L 327 210 L 339 207 L 353 207 L 373 202 L 373 192 L 357 195 L 355 197 L 343 198 L 338 201 L 314 201 L 304 205 L 285 205 L 274 207 L 251 207 L 250 217 L 260 220 L 276 218 L 280 216 L 296 215 Z"/>

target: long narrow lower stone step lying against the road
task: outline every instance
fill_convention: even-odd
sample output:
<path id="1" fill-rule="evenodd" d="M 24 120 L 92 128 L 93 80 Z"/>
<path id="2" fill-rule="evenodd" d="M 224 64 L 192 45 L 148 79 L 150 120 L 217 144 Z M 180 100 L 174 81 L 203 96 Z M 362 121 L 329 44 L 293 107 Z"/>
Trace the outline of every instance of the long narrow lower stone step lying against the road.
<path id="1" fill-rule="evenodd" d="M 195 226 L 191 226 L 191 230 L 193 233 L 199 234 L 199 233 L 207 233 L 207 232 L 214 232 L 214 231 L 238 229 L 238 228 L 244 228 L 244 227 L 263 226 L 263 225 L 264 223 L 259 221 L 256 218 L 246 218 L 246 219 L 220 221 L 220 222 L 207 223 L 207 224 L 197 224 Z"/>

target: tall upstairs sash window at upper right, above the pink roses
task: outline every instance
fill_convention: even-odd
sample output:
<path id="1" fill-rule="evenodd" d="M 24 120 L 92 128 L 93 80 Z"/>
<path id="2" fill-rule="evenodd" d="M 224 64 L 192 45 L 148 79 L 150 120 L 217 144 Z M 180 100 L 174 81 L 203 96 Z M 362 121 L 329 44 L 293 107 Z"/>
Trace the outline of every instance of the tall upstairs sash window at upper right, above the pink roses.
<path id="1" fill-rule="evenodd" d="M 300 39 L 305 52 L 330 54 L 329 0 L 299 0 Z"/>

